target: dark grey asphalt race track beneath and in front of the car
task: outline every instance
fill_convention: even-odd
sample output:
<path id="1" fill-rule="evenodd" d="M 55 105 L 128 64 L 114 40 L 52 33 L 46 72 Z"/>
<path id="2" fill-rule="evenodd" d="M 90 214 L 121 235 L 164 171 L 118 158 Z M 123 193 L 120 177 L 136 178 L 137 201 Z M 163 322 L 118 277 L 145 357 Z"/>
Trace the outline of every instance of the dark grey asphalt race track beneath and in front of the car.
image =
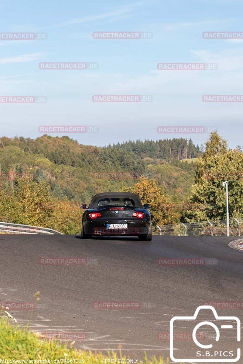
<path id="1" fill-rule="evenodd" d="M 236 239 L 153 236 L 152 242 L 141 242 L 0 235 L 0 301 L 34 302 L 40 291 L 34 310 L 9 309 L 19 324 L 30 320 L 32 331 L 62 332 L 67 339 L 72 334 L 66 333 L 76 333 L 82 338 L 75 340 L 79 348 L 106 351 L 122 345 L 122 352 L 132 358 L 143 357 L 144 351 L 168 357 L 173 316 L 192 316 L 208 301 L 243 301 L 243 253 L 228 246 Z M 40 264 L 42 257 L 85 258 L 87 264 Z M 159 265 L 159 258 L 201 258 L 203 263 Z M 93 302 L 137 302 L 137 308 L 97 309 Z M 217 313 L 243 321 L 243 309 L 219 308 Z M 207 320 L 213 319 L 211 312 L 207 314 Z M 206 313 L 202 317 L 205 320 Z M 175 332 L 188 333 L 186 326 L 177 325 Z M 211 343 L 207 328 L 201 332 L 203 343 Z M 238 347 L 231 331 L 222 337 L 232 349 Z M 177 340 L 175 347 L 187 355 L 190 345 L 192 340 Z"/>

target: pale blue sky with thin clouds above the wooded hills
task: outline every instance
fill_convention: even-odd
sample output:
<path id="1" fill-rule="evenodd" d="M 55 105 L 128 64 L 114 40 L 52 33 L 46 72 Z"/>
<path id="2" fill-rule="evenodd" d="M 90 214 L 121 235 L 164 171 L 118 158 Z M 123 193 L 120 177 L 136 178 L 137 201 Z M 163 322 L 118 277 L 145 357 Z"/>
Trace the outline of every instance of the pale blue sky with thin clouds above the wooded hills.
<path id="1" fill-rule="evenodd" d="M 47 34 L 41 40 L 0 39 L 0 95 L 47 101 L 1 98 L 0 136 L 36 138 L 45 134 L 39 126 L 93 126 L 94 132 L 48 128 L 46 134 L 97 146 L 181 137 L 200 146 L 216 128 L 230 147 L 243 146 L 242 102 L 202 101 L 203 95 L 243 95 L 243 38 L 203 38 L 203 32 L 243 33 L 242 0 L 14 0 L 0 1 L 0 7 L 0 33 Z M 93 37 L 111 31 L 149 36 Z M 40 69 L 46 62 L 99 66 Z M 217 69 L 158 70 L 158 63 L 216 63 Z M 150 95 L 152 101 L 94 102 L 93 95 Z M 205 132 L 158 133 L 161 126 Z"/>

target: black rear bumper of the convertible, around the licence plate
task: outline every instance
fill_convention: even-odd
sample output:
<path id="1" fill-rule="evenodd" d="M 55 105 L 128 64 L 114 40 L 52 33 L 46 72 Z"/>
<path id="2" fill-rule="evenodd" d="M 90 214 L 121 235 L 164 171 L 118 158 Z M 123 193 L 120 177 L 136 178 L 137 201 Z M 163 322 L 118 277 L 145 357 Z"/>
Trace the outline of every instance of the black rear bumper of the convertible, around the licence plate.
<path id="1" fill-rule="evenodd" d="M 127 229 L 106 229 L 106 223 L 127 223 Z M 147 235 L 149 232 L 150 221 L 128 221 L 128 220 L 95 220 L 84 221 L 83 227 L 86 234 L 95 236 L 124 236 L 124 235 Z"/>

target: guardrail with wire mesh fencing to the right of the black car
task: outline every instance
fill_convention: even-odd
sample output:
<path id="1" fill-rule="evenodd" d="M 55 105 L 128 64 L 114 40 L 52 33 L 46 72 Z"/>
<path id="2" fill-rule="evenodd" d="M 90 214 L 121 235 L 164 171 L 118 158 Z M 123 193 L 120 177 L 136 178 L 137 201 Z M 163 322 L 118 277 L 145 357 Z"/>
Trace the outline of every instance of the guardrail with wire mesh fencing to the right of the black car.
<path id="1" fill-rule="evenodd" d="M 227 236 L 226 220 L 181 222 L 152 226 L 154 235 Z M 230 236 L 243 236 L 243 219 L 230 219 Z"/>

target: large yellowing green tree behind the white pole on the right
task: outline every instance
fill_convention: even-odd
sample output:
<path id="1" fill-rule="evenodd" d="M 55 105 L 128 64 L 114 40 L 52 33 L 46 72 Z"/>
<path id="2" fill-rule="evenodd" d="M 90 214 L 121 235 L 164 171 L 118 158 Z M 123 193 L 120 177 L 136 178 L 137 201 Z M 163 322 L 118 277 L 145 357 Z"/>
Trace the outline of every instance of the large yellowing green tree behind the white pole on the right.
<path id="1" fill-rule="evenodd" d="M 186 221 L 226 218 L 225 189 L 228 180 L 229 213 L 233 218 L 243 216 L 243 153 L 227 149 L 227 142 L 212 132 L 203 155 L 196 162 L 196 184 L 192 186 L 190 202 L 200 203 L 203 209 L 187 211 Z"/>

